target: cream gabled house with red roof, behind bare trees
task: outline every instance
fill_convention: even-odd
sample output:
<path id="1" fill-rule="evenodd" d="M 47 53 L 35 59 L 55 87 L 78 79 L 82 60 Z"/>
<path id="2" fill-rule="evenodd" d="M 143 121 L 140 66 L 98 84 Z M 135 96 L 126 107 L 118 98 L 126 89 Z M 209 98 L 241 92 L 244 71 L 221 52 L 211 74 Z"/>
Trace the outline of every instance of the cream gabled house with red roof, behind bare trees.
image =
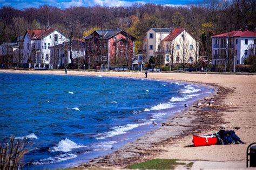
<path id="1" fill-rule="evenodd" d="M 164 53 L 164 65 L 169 66 L 173 59 L 174 64 L 193 64 L 198 60 L 198 42 L 190 32 L 184 28 L 172 30 L 167 37 L 162 40 L 162 52 Z M 173 58 L 172 58 L 173 53 Z"/>

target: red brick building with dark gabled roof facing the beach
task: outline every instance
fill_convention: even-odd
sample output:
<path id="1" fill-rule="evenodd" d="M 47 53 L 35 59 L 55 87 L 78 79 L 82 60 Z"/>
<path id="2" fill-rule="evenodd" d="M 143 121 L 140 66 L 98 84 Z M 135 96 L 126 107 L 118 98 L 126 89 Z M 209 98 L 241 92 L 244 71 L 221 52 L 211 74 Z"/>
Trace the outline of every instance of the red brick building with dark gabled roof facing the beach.
<path id="1" fill-rule="evenodd" d="M 95 30 L 83 38 L 90 67 L 130 67 L 134 59 L 134 38 L 123 30 Z"/>

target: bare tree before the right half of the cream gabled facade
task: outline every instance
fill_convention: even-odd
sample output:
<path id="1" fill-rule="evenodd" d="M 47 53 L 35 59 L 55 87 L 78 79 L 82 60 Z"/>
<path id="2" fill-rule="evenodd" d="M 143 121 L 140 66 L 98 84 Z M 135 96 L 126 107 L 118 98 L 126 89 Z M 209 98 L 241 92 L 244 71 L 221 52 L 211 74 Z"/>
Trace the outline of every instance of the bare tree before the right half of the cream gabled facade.
<path id="1" fill-rule="evenodd" d="M 189 41 L 186 38 L 186 31 L 183 32 L 183 37 L 179 38 L 180 42 L 180 56 L 181 56 L 181 66 L 183 67 L 183 71 L 187 63 L 189 62 L 188 52 L 189 52 Z"/>

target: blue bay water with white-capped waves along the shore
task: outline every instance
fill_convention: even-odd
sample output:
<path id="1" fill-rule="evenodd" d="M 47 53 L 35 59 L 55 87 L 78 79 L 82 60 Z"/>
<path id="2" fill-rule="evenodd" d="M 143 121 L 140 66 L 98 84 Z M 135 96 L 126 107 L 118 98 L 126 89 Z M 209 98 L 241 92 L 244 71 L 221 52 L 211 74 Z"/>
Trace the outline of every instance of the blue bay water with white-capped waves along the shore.
<path id="1" fill-rule="evenodd" d="M 64 168 L 111 153 L 213 89 L 150 79 L 0 74 L 0 141 L 34 148 L 29 168 Z"/>

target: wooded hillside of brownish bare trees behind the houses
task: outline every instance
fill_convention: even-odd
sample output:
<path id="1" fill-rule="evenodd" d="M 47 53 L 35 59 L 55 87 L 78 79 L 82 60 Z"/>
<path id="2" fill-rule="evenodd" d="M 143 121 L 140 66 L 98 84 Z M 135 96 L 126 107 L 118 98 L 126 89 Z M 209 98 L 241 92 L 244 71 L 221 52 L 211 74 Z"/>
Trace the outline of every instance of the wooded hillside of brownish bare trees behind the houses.
<path id="1" fill-rule="evenodd" d="M 71 7 L 59 9 L 43 5 L 23 10 L 0 9 L 0 43 L 14 40 L 26 29 L 45 29 L 48 22 L 67 35 L 82 38 L 93 29 L 123 29 L 137 37 L 140 48 L 150 28 L 186 28 L 208 53 L 211 35 L 231 30 L 254 30 L 255 0 L 205 1 L 201 4 L 169 6 L 135 3 L 129 7 Z M 74 24 L 75 23 L 75 24 Z M 74 31 L 75 30 L 75 31 Z M 73 32 L 70 32 L 73 31 Z M 205 54 L 207 55 L 207 54 Z"/>

